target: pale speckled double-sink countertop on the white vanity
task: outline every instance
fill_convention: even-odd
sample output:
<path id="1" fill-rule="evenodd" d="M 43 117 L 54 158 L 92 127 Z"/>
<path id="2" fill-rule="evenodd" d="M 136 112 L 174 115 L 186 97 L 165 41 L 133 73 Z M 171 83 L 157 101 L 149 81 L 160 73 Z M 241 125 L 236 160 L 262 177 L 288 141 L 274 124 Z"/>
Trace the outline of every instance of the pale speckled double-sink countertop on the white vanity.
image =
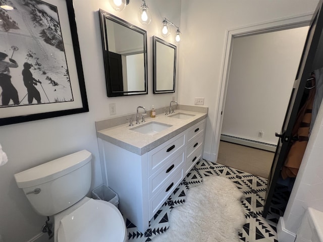
<path id="1" fill-rule="evenodd" d="M 133 126 L 129 126 L 129 123 L 127 123 L 115 126 L 113 128 L 97 131 L 96 135 L 98 138 L 117 145 L 130 152 L 138 155 L 143 155 L 148 151 L 154 149 L 158 145 L 163 144 L 169 139 L 182 133 L 191 126 L 197 124 L 207 116 L 207 113 L 179 109 L 176 109 L 176 112 L 174 114 L 179 112 L 194 114 L 195 116 L 192 116 L 188 119 L 179 119 L 165 115 L 165 113 L 161 113 L 156 115 L 156 117 L 146 117 L 145 123 L 140 123 L 139 125 L 137 125 L 136 120 L 134 120 Z M 155 134 L 141 134 L 139 132 L 131 130 L 135 127 L 146 125 L 150 122 L 163 123 L 171 125 L 172 127 L 169 127 Z"/>

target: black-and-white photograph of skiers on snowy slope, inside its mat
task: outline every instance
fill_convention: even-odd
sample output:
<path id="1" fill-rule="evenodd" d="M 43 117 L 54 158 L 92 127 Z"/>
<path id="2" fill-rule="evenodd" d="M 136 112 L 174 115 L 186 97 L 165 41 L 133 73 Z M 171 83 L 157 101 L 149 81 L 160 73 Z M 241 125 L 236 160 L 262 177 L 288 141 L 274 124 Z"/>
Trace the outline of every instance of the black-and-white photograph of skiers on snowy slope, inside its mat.
<path id="1" fill-rule="evenodd" d="M 73 101 L 57 7 L 39 0 L 1 5 L 14 9 L 0 8 L 0 110 Z"/>

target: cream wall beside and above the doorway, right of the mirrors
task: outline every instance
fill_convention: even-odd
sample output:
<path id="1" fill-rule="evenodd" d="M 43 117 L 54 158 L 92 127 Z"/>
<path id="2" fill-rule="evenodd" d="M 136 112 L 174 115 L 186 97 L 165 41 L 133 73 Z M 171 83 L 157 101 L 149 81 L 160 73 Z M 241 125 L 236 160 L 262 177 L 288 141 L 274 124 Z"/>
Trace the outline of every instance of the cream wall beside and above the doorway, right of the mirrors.
<path id="1" fill-rule="evenodd" d="M 216 157 L 216 115 L 225 53 L 226 31 L 313 12 L 317 0 L 186 0 L 181 15 L 179 102 L 208 106 L 204 158 Z"/>

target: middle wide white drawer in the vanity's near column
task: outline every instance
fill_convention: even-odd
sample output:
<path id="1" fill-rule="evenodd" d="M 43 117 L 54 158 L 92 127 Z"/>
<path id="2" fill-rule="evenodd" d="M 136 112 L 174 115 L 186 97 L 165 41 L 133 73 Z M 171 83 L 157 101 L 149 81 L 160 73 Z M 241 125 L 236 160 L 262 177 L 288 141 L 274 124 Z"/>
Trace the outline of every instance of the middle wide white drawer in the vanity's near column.
<path id="1" fill-rule="evenodd" d="M 158 171 L 153 173 L 148 179 L 148 188 L 149 188 L 149 198 L 154 196 L 161 187 L 167 182 L 167 179 L 175 174 L 179 169 L 183 169 L 183 162 L 185 152 L 179 153 L 175 158 L 171 159 L 170 162 L 167 162 L 163 167 Z"/>

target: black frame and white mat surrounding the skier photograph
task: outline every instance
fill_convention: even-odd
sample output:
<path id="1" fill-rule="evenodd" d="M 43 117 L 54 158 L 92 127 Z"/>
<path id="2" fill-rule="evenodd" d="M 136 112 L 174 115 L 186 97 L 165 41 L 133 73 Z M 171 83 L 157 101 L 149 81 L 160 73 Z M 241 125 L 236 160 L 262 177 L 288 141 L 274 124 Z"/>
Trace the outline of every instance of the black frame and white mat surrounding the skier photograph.
<path id="1" fill-rule="evenodd" d="M 46 3 L 45 1 L 46 0 L 39 2 Z M 59 17 L 60 28 L 62 29 L 62 42 L 64 45 L 64 54 L 68 67 L 67 74 L 69 76 L 69 82 L 71 85 L 70 89 L 71 92 L 73 92 L 73 99 L 68 101 L 56 101 L 52 103 L 50 103 L 48 99 L 48 103 L 40 103 L 36 105 L 0 106 L 0 126 L 89 111 L 73 1 L 53 0 L 50 1 L 48 5 L 51 5 L 53 2 L 60 6 L 57 8 L 57 14 Z M 64 23 L 62 23 L 61 20 L 63 20 Z M 67 20 L 69 21 L 69 25 L 66 24 Z M 63 32 L 65 34 L 63 34 Z M 67 44 L 65 44 L 65 42 Z M 69 54 L 67 54 L 67 52 Z M 73 72 L 73 74 L 71 74 L 71 72 Z M 74 90 L 72 87 L 74 87 Z M 7 111 L 6 109 L 9 110 Z M 2 110 L 6 110 L 6 114 L 4 114 L 5 111 L 2 112 Z"/>

